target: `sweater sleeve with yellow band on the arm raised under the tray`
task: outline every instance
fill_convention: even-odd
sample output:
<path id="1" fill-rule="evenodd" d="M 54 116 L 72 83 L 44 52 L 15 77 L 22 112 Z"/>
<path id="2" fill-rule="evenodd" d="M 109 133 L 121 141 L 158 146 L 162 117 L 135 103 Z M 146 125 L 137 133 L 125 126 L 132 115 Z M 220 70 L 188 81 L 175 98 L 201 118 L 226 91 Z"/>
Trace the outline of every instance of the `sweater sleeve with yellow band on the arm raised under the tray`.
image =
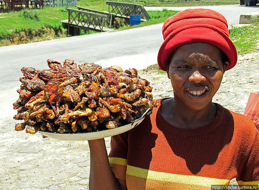
<path id="1" fill-rule="evenodd" d="M 109 163 L 116 178 L 126 179 L 128 132 L 111 137 Z"/>

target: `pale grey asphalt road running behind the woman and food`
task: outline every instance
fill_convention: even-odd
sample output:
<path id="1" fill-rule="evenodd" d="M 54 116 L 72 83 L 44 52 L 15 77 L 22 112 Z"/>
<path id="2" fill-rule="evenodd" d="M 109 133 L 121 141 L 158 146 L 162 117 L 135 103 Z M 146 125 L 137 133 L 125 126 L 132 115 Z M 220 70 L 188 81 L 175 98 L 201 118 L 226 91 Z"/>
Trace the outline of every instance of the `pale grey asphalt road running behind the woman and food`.
<path id="1" fill-rule="evenodd" d="M 146 10 L 184 10 L 196 7 L 146 7 Z M 241 14 L 259 11 L 259 6 L 240 5 L 199 6 L 223 14 L 229 25 L 238 24 Z M 18 98 L 20 69 L 23 66 L 48 69 L 47 59 L 76 63 L 94 62 L 103 67 L 118 65 L 123 69 L 144 69 L 157 63 L 162 38 L 162 23 L 116 32 L 96 33 L 49 41 L 0 47 L 0 117 L 13 115 L 12 103 Z"/>

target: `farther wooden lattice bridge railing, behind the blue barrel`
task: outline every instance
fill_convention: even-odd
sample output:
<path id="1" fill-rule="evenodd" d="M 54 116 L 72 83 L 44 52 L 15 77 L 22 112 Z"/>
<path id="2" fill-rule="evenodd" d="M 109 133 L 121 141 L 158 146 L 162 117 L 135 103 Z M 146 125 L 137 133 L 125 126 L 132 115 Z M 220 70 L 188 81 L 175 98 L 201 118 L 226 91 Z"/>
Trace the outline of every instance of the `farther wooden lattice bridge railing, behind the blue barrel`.
<path id="1" fill-rule="evenodd" d="M 106 1 L 106 4 L 109 5 L 109 12 L 116 14 L 116 16 L 129 17 L 131 14 L 140 14 L 142 19 L 150 19 L 143 5 L 115 1 Z"/>

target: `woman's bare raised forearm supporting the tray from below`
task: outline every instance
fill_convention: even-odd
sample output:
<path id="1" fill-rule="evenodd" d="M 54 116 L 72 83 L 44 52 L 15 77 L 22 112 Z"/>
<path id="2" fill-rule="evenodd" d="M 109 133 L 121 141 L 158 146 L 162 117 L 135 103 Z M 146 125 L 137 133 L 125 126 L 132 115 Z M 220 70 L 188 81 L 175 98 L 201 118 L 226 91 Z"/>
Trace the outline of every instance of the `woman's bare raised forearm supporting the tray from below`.
<path id="1" fill-rule="evenodd" d="M 126 180 L 117 180 L 111 170 L 104 138 L 88 140 L 90 148 L 89 189 L 127 189 Z"/>

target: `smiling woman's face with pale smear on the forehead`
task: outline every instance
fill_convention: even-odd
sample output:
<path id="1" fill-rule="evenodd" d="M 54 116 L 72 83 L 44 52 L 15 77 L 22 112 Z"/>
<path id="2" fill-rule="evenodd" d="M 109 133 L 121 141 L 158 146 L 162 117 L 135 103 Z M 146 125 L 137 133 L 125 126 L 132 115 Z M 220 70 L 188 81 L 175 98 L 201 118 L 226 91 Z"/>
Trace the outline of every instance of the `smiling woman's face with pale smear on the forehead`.
<path id="1" fill-rule="evenodd" d="M 211 104 L 223 73 L 220 49 L 205 42 L 178 47 L 167 71 L 175 101 L 192 110 L 201 110 Z"/>

